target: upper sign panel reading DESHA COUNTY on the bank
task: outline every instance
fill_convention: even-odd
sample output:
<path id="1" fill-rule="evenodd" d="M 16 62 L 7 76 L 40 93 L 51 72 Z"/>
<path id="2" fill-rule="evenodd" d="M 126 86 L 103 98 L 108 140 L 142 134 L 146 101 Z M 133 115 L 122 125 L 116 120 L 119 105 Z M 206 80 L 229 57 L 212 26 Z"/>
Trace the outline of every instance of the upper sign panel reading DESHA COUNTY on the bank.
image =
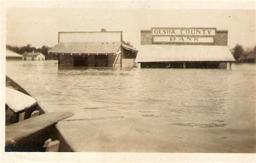
<path id="1" fill-rule="evenodd" d="M 152 35 L 215 36 L 215 28 L 152 28 Z"/>

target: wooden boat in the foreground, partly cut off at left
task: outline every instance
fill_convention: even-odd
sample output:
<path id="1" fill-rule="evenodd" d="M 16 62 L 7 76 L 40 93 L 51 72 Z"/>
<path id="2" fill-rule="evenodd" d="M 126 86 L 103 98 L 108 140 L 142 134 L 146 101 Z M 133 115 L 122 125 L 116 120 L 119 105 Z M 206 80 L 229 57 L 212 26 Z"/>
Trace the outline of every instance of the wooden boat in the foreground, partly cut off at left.
<path id="1" fill-rule="evenodd" d="M 42 105 L 7 76 L 5 114 L 7 117 L 5 125 L 6 152 L 44 152 L 49 151 L 46 147 L 51 144 L 53 151 L 56 149 L 62 152 L 72 151 L 55 125 L 59 120 L 73 116 L 73 113 L 45 113 Z M 34 116 L 36 114 L 40 115 Z M 10 115 L 11 118 L 8 118 Z M 54 141 L 49 143 L 49 140 Z M 56 141 L 58 142 L 57 148 L 55 148 Z M 45 146 L 45 142 L 48 146 Z"/>

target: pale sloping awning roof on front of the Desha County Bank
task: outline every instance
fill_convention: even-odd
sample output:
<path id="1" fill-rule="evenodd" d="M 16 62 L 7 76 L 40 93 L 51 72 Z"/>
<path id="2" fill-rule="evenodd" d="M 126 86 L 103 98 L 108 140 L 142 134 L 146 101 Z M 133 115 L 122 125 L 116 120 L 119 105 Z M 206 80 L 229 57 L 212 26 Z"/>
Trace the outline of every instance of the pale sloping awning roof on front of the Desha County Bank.
<path id="1" fill-rule="evenodd" d="M 142 45 L 136 62 L 235 61 L 227 46 Z"/>

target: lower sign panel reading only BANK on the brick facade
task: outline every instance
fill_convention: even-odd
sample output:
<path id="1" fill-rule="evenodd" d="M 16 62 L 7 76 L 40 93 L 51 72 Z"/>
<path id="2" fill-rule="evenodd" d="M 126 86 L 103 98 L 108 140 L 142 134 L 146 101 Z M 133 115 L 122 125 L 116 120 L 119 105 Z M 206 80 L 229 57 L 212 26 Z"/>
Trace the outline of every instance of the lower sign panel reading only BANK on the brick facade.
<path id="1" fill-rule="evenodd" d="M 154 36 L 153 43 L 213 43 L 213 37 L 197 36 Z"/>

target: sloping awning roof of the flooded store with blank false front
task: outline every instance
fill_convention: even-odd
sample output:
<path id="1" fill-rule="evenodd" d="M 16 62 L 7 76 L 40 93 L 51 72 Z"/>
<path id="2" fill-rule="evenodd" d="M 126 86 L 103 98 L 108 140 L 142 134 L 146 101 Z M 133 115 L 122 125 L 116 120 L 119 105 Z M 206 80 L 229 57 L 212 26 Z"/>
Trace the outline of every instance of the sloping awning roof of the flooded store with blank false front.
<path id="1" fill-rule="evenodd" d="M 58 43 L 49 50 L 51 53 L 116 53 L 119 42 Z"/>

